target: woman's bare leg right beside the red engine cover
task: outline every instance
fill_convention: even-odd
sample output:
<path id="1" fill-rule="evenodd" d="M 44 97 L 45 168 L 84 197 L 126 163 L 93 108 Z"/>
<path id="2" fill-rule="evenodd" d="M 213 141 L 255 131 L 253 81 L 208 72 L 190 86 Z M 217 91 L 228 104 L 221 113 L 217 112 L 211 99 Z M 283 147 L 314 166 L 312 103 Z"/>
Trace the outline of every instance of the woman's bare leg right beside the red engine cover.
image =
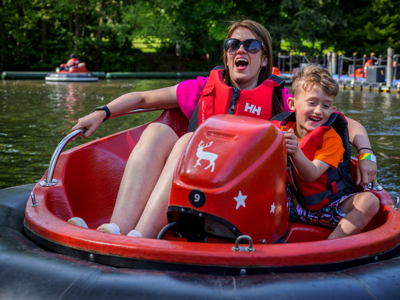
<path id="1" fill-rule="evenodd" d="M 174 171 L 192 135 L 193 133 L 185 134 L 175 144 L 165 164 L 164 170 L 151 193 L 142 217 L 135 228 L 143 237 L 156 238 L 160 230 L 168 223 L 166 212 L 171 194 Z"/>

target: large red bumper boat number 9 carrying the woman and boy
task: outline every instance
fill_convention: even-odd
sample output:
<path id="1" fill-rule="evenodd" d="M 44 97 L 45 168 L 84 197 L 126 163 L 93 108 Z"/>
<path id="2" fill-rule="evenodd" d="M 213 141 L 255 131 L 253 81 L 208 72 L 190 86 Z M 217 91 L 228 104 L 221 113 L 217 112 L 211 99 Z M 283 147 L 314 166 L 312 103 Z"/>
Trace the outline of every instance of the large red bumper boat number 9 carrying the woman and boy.
<path id="1" fill-rule="evenodd" d="M 164 111 L 155 121 L 170 125 L 179 136 L 186 132 L 180 110 Z M 61 153 L 79 131 L 66 137 L 26 204 L 27 236 L 61 259 L 90 262 L 86 270 L 107 268 L 100 272 L 122 276 L 114 282 L 118 295 L 392 299 L 400 292 L 399 203 L 382 188 L 371 189 L 380 199 L 379 213 L 362 233 L 337 240 L 326 240 L 331 229 L 289 222 L 284 139 L 268 121 L 222 115 L 196 130 L 175 171 L 171 226 L 160 239 L 96 231 L 111 217 L 126 161 L 145 128 Z M 86 220 L 89 229 L 67 223 L 74 216 Z M 52 272 L 49 268 L 49 276 L 59 276 Z M 140 272 L 143 286 L 128 284 Z M 84 283 L 85 274 L 78 274 Z M 178 282 L 172 274 L 179 274 Z M 161 290 L 152 289 L 155 284 Z M 173 297 L 170 288 L 179 286 L 185 291 Z"/>

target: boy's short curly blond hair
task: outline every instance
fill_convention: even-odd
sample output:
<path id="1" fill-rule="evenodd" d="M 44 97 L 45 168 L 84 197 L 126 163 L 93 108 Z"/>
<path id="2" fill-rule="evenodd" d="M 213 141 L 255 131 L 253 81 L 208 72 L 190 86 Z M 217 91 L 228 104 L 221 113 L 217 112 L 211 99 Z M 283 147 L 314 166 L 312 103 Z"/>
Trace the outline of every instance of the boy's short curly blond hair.
<path id="1" fill-rule="evenodd" d="M 339 93 L 339 86 L 327 69 L 309 65 L 293 76 L 293 97 L 296 98 L 301 90 L 311 91 L 315 85 L 318 85 L 329 96 L 336 97 Z"/>

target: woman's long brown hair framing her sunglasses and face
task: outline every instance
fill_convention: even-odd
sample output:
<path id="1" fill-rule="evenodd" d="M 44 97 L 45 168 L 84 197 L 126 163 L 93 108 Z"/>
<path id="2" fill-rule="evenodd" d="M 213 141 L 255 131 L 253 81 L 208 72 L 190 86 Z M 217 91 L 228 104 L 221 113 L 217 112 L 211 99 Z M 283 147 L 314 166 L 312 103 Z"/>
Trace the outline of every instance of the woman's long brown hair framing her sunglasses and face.
<path id="1" fill-rule="evenodd" d="M 243 27 L 250 30 L 254 36 L 263 42 L 264 51 L 263 55 L 265 55 L 268 59 L 268 63 L 265 67 L 261 67 L 260 74 L 258 75 L 257 85 L 260 85 L 264 80 L 268 79 L 272 75 L 272 64 L 273 64 L 273 55 L 272 55 L 272 41 L 271 36 L 269 35 L 268 30 L 262 26 L 260 23 L 254 22 L 252 20 L 238 20 L 231 21 L 230 26 L 227 31 L 226 38 L 229 39 L 234 31 Z M 231 85 L 232 81 L 229 74 L 229 69 L 227 66 L 227 52 L 224 48 L 223 52 L 223 61 L 225 65 L 225 83 L 227 85 Z M 280 90 L 274 90 L 273 101 L 272 101 L 272 116 L 281 113 L 283 111 L 282 108 L 282 93 Z"/>

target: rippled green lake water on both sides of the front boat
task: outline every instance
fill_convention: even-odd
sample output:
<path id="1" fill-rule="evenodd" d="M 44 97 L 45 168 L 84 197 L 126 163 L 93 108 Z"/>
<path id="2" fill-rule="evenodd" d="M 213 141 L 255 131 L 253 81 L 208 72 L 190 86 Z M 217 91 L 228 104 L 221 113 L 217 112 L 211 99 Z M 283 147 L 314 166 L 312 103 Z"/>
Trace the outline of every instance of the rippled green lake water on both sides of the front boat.
<path id="1" fill-rule="evenodd" d="M 0 83 L 0 188 L 37 182 L 51 155 L 77 119 L 116 97 L 172 86 L 178 80 L 102 80 L 97 83 Z M 378 158 L 378 180 L 392 197 L 400 194 L 400 94 L 341 90 L 339 111 L 360 121 Z M 155 119 L 159 112 L 116 118 L 90 140 Z M 67 149 L 88 140 L 71 141 Z"/>

